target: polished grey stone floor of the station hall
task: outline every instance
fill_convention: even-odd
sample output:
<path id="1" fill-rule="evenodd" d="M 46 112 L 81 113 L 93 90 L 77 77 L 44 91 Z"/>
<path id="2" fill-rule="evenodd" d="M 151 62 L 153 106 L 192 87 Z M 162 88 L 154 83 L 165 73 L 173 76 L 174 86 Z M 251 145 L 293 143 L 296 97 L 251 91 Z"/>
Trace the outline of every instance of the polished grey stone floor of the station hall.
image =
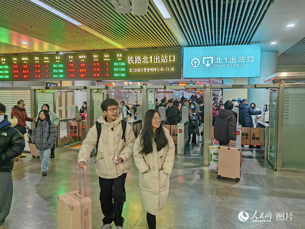
<path id="1" fill-rule="evenodd" d="M 57 228 L 57 195 L 79 187 L 77 154 L 77 150 L 56 148 L 56 157 L 50 159 L 50 169 L 45 177 L 41 176 L 39 158 L 26 154 L 27 158 L 15 162 L 13 202 L 5 229 Z M 258 150 L 248 149 L 243 155 L 240 181 L 218 180 L 217 165 L 203 166 L 202 144 L 188 144 L 185 155 L 175 156 L 169 196 L 165 208 L 156 216 L 157 228 L 305 228 L 305 176 L 275 172 Z M 125 187 L 124 228 L 145 229 L 146 212 L 142 208 L 134 161 Z M 94 229 L 101 228 L 103 218 L 99 191 L 94 158 L 91 158 L 88 162 L 87 196 L 92 199 Z M 238 217 L 242 211 L 249 214 L 245 222 Z M 243 213 L 244 217 L 246 213 Z M 262 220 L 261 214 L 264 220 L 270 220 L 270 217 L 265 218 L 267 213 L 271 213 L 271 222 L 253 222 L 256 218 Z M 284 220 L 279 220 L 277 213 L 283 213 Z M 292 220 L 289 217 L 286 220 L 287 213 L 293 215 Z"/>

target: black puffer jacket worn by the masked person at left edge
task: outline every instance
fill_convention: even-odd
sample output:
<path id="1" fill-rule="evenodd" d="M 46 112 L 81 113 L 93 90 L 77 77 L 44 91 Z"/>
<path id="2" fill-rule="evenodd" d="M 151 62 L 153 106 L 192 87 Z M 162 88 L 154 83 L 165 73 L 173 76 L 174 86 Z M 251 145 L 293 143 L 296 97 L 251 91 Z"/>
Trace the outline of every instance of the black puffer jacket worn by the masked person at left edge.
<path id="1" fill-rule="evenodd" d="M 5 115 L 4 120 L 0 123 L 0 172 L 12 171 L 14 158 L 21 155 L 25 147 L 21 133 L 10 125 L 7 115 Z"/>

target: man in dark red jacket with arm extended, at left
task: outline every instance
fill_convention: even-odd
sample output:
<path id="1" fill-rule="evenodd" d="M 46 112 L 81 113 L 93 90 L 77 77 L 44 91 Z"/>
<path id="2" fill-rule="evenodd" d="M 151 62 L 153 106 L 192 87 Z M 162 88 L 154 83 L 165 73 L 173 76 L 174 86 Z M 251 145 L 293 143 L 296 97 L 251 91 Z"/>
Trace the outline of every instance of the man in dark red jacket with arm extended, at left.
<path id="1" fill-rule="evenodd" d="M 23 100 L 19 100 L 17 102 L 17 105 L 15 105 L 14 107 L 12 107 L 12 111 L 11 111 L 11 117 L 13 118 L 14 116 L 18 119 L 18 124 L 15 126 L 15 128 L 17 130 L 19 130 L 19 132 L 24 135 L 25 133 L 27 133 L 27 129 L 30 129 L 29 126 L 27 126 L 27 124 L 25 124 L 26 121 L 29 122 L 35 122 L 36 118 L 29 118 L 27 117 L 27 112 L 25 111 L 25 102 Z M 21 154 L 22 158 L 25 158 L 26 156 L 23 156 Z M 15 158 L 16 161 L 18 161 L 18 158 Z"/>

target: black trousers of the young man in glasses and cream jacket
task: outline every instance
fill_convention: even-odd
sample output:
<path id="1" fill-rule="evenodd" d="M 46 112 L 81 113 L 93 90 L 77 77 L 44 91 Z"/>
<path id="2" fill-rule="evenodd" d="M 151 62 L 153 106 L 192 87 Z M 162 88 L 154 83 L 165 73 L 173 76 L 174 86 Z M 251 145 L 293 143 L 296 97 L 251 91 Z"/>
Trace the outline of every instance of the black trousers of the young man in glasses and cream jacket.
<path id="1" fill-rule="evenodd" d="M 116 226 L 123 226 L 122 211 L 126 201 L 126 174 L 123 173 L 114 179 L 99 177 L 99 186 L 101 188 L 99 199 L 101 201 L 102 212 L 105 216 L 102 220 L 103 224 L 110 224 L 114 221 Z"/>

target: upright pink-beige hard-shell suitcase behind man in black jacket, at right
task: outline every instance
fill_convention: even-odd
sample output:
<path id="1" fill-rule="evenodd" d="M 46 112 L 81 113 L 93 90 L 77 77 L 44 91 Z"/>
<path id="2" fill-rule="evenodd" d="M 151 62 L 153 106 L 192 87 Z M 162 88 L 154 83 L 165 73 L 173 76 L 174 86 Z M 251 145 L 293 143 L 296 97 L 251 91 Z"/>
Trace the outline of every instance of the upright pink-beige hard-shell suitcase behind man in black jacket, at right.
<path id="1" fill-rule="evenodd" d="M 242 172 L 242 147 L 218 147 L 218 176 L 240 179 Z"/>

